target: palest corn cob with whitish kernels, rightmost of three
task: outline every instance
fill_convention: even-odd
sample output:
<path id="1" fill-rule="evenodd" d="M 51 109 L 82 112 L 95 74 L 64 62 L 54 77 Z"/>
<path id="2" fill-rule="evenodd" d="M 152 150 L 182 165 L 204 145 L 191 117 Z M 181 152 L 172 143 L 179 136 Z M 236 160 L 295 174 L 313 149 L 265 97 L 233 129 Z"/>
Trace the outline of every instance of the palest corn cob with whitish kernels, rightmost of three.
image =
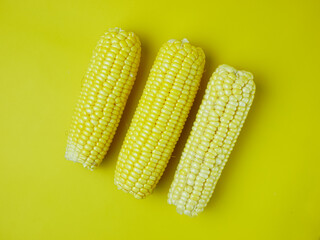
<path id="1" fill-rule="evenodd" d="M 196 216 L 207 205 L 254 93 L 249 72 L 221 65 L 212 75 L 169 190 L 178 213 Z"/>

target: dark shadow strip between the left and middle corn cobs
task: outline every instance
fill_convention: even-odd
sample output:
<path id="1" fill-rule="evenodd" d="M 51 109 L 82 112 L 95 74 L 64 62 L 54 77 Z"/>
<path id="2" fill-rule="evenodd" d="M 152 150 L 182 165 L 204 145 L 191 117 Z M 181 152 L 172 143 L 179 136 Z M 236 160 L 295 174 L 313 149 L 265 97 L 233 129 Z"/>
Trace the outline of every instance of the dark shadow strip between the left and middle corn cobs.
<path id="1" fill-rule="evenodd" d="M 138 106 L 139 99 L 142 95 L 144 85 L 147 81 L 149 71 L 152 66 L 152 59 L 155 56 L 150 56 L 150 47 L 148 41 L 145 40 L 145 37 L 142 33 L 137 32 L 137 35 L 140 37 L 141 41 L 141 58 L 139 69 L 137 73 L 136 80 L 128 97 L 126 106 L 123 110 L 123 114 L 117 128 L 116 134 L 114 135 L 113 141 L 110 145 L 110 148 L 102 161 L 101 168 L 114 168 L 118 159 L 118 155 L 121 149 L 121 145 L 124 141 L 126 132 L 130 126 L 131 119 L 135 112 L 136 107 Z"/>

